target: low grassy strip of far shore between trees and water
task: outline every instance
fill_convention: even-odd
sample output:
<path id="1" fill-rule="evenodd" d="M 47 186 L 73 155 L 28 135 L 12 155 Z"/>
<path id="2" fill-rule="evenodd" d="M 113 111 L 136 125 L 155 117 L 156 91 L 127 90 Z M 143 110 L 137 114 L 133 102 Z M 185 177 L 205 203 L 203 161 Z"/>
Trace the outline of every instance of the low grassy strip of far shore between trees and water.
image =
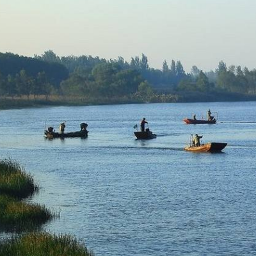
<path id="1" fill-rule="evenodd" d="M 22 98 L 1 98 L 0 110 L 23 109 L 23 108 L 42 108 L 47 106 L 97 106 L 97 105 L 118 105 L 118 104 L 146 104 L 146 103 L 192 103 L 192 102 L 241 102 L 256 101 L 256 95 L 243 95 L 238 93 L 180 93 L 173 95 L 157 95 L 152 99 L 142 99 L 134 97 L 122 98 L 82 98 L 82 97 L 61 97 L 52 95 L 45 100 L 43 97 L 38 99 Z"/>

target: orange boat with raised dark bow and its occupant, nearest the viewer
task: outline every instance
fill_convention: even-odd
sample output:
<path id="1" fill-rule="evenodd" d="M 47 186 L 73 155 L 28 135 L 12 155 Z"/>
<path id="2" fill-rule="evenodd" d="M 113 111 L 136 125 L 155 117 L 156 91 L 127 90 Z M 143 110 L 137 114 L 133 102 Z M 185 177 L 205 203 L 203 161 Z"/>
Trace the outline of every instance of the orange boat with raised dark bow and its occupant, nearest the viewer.
<path id="1" fill-rule="evenodd" d="M 227 146 L 227 143 L 220 142 L 208 142 L 201 145 L 200 139 L 202 137 L 198 136 L 198 134 L 195 134 L 195 136 L 191 134 L 189 146 L 185 147 L 184 150 L 191 152 L 221 152 Z"/>

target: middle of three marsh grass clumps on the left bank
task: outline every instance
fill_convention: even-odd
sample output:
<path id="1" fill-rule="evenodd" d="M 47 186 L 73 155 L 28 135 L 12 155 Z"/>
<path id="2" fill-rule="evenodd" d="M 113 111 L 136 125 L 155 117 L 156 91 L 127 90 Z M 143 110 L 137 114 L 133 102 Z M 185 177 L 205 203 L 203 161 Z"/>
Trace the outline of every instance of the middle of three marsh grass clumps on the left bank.
<path id="1" fill-rule="evenodd" d="M 0 230 L 33 230 L 54 216 L 44 205 L 0 195 Z"/>

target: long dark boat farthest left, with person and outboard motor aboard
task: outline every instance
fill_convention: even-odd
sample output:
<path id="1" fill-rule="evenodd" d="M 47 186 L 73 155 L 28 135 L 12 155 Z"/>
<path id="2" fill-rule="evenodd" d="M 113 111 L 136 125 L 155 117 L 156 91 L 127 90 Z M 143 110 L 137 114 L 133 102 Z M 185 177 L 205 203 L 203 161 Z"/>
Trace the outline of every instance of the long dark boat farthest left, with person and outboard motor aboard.
<path id="1" fill-rule="evenodd" d="M 65 122 L 60 124 L 60 132 L 56 132 L 53 127 L 48 127 L 47 130 L 44 131 L 45 138 L 53 139 L 53 138 L 87 138 L 88 132 L 87 127 L 88 124 L 81 123 L 80 131 L 75 132 L 65 132 Z"/>

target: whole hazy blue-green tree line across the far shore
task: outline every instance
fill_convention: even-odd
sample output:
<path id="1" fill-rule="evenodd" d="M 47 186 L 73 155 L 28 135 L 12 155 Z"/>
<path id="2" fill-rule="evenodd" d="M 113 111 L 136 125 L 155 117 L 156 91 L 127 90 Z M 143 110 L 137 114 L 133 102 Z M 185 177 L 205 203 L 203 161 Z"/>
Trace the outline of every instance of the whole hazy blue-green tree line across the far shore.
<path id="1" fill-rule="evenodd" d="M 0 53 L 0 96 L 22 97 L 51 94 L 86 97 L 142 97 L 187 92 L 255 94 L 256 69 L 248 70 L 220 61 L 214 71 L 193 66 L 186 73 L 180 61 L 150 68 L 145 54 L 127 62 L 122 57 L 105 60 L 92 56 L 59 57 L 45 51 L 34 58 Z M 142 99 L 141 98 L 141 99 Z M 164 100 L 164 99 L 163 99 Z"/>

